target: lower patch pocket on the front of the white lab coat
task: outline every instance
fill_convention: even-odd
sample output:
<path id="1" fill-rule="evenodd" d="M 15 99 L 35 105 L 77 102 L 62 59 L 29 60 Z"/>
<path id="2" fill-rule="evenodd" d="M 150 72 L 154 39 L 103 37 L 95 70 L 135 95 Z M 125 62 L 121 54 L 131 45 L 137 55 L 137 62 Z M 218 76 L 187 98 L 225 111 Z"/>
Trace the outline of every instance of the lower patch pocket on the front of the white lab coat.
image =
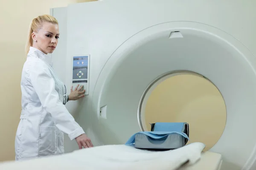
<path id="1" fill-rule="evenodd" d="M 55 126 L 40 126 L 38 156 L 54 155 L 57 152 Z"/>

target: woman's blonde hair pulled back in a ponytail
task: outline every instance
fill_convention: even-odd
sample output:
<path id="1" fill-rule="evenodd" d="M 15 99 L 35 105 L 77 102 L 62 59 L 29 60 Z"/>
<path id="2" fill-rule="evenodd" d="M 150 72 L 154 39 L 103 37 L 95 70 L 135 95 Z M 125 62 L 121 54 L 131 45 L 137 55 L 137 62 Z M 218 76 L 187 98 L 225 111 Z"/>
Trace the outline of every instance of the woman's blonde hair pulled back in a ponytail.
<path id="1" fill-rule="evenodd" d="M 37 32 L 39 29 L 41 29 L 42 24 L 44 22 L 58 24 L 58 21 L 56 20 L 56 18 L 52 17 L 51 15 L 45 14 L 45 15 L 40 15 L 34 18 L 29 25 L 29 34 L 28 34 L 28 40 L 26 43 L 26 54 L 29 53 L 29 48 L 33 45 L 32 33 Z"/>

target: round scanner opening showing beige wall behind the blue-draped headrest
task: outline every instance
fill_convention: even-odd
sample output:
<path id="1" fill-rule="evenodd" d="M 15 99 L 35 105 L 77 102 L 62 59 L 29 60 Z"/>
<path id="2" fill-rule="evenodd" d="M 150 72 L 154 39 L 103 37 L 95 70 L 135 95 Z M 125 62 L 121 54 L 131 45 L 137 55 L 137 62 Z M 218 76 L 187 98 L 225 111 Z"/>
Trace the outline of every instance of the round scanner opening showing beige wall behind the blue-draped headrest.
<path id="1" fill-rule="evenodd" d="M 154 122 L 187 122 L 189 139 L 206 144 L 204 151 L 220 139 L 227 119 L 226 105 L 218 88 L 194 73 L 162 77 L 145 94 L 140 122 L 150 131 Z"/>

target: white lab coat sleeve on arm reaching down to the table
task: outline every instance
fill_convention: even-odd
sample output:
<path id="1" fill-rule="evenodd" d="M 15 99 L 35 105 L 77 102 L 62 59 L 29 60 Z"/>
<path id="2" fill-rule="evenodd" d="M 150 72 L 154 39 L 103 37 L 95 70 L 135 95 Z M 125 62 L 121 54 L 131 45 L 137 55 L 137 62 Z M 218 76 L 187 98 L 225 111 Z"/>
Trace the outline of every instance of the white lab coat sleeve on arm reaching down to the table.
<path id="1" fill-rule="evenodd" d="M 68 134 L 70 140 L 83 134 L 84 130 L 59 99 L 58 92 L 55 90 L 55 81 L 48 66 L 44 62 L 37 60 L 31 65 L 29 77 L 42 107 L 52 115 L 56 127 Z"/>

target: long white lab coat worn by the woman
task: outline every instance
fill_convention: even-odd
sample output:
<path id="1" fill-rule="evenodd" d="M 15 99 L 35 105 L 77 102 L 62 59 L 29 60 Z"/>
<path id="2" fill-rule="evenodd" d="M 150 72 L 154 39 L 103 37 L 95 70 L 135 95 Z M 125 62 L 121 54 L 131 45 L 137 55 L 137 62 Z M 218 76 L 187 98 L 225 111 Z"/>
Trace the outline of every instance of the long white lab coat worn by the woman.
<path id="1" fill-rule="evenodd" d="M 16 160 L 64 153 L 64 133 L 73 140 L 84 130 L 63 105 L 65 87 L 54 73 L 50 57 L 30 47 L 20 85 L 22 111 L 15 137 Z"/>

